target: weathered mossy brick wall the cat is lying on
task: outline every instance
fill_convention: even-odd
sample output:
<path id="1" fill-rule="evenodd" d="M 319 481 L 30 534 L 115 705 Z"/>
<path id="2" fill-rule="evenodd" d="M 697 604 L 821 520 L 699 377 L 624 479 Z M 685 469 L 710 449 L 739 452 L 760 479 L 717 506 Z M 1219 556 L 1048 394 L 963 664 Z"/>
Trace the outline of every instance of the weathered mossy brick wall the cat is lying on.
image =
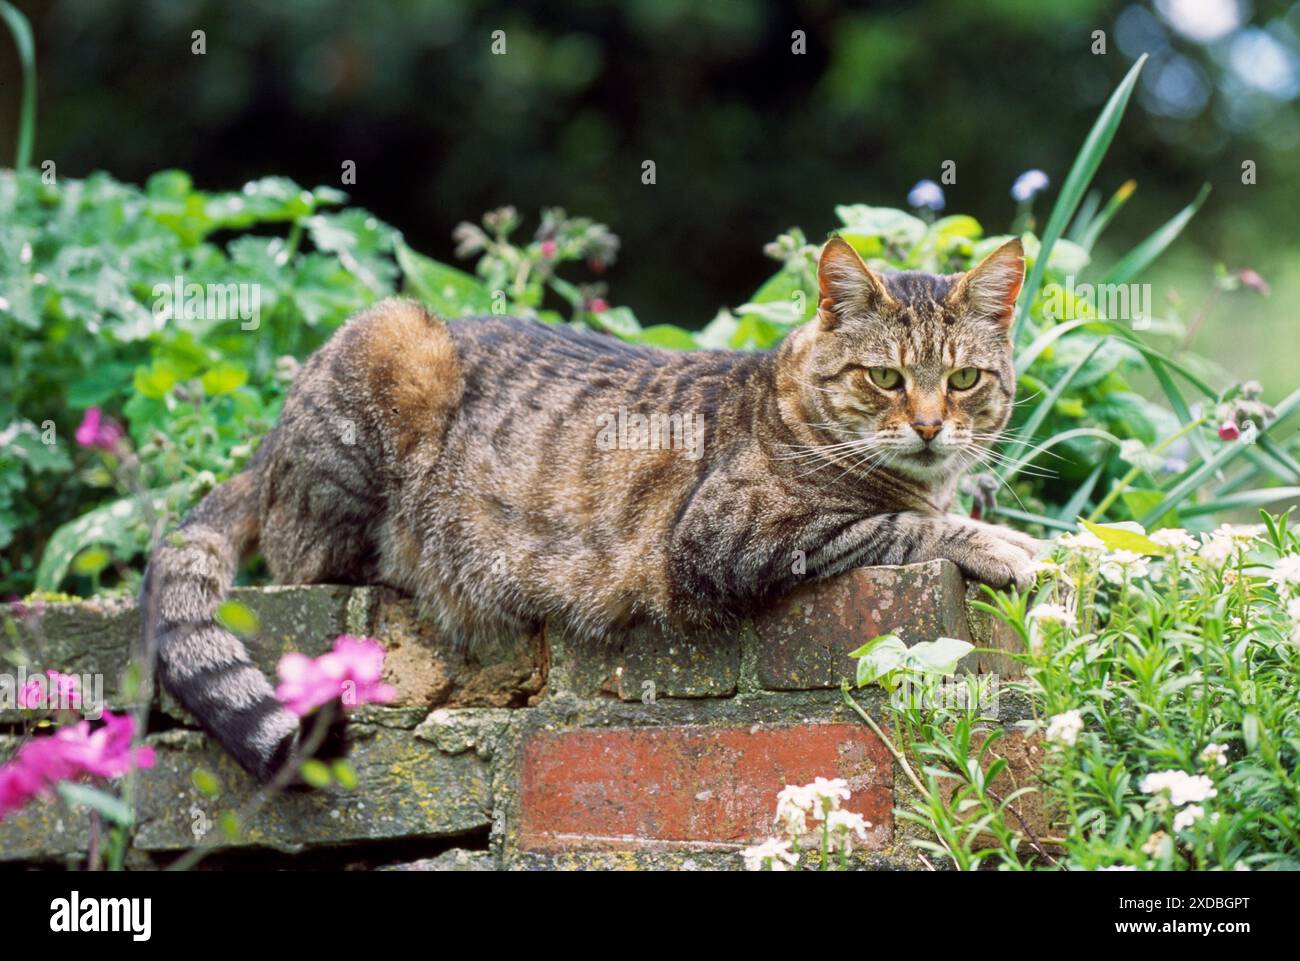
<path id="1" fill-rule="evenodd" d="M 261 622 L 252 646 L 268 675 L 285 652 L 369 635 L 389 650 L 398 700 L 354 718 L 356 789 L 276 798 L 209 865 L 738 867 L 736 849 L 770 835 L 783 785 L 840 776 L 849 806 L 874 824 L 862 863 L 914 866 L 893 818 L 907 783 L 845 707 L 840 681 L 853 671 L 848 652 L 887 631 L 1004 648 L 970 592 L 948 562 L 862 568 L 716 636 L 647 631 L 592 645 L 542 633 L 472 659 L 385 589 L 240 589 Z M 51 603 L 17 628 L 36 667 L 103 674 L 109 706 L 121 706 L 118 679 L 139 636 L 130 603 Z M 1011 663 L 984 654 L 967 667 L 1005 678 Z M 880 697 L 858 692 L 874 714 Z M 1004 714 L 1015 714 L 1006 698 Z M 16 720 L 0 711 L 4 730 Z M 170 698 L 151 730 L 157 765 L 138 782 L 138 867 L 192 847 L 254 791 Z M 1005 743 L 1018 745 L 1022 767 L 1032 762 L 1032 745 Z M 195 788 L 198 767 L 217 775 L 218 798 Z M 0 861 L 77 863 L 86 840 L 83 813 L 42 801 L 0 822 Z"/>

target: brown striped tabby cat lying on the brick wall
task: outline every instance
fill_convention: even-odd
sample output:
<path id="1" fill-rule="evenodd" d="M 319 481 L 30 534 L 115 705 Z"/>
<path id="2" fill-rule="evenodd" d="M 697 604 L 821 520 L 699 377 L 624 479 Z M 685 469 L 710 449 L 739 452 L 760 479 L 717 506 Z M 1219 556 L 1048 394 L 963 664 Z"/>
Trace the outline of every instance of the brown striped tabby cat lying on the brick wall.
<path id="1" fill-rule="evenodd" d="M 876 273 L 845 241 L 775 351 L 672 352 L 385 300 L 298 375 L 250 467 L 155 551 L 162 683 L 251 772 L 298 744 L 214 619 L 240 559 L 386 584 L 463 644 L 716 624 L 801 580 L 948 558 L 1024 588 L 1037 542 L 945 512 L 1015 393 L 1019 241 L 965 274 Z"/>

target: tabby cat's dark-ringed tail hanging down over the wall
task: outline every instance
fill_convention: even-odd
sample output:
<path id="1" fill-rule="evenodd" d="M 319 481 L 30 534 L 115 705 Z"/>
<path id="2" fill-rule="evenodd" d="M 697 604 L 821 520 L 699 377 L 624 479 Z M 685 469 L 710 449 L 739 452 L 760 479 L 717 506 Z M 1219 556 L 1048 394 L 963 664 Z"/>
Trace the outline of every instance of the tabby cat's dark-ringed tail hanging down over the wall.
<path id="1" fill-rule="evenodd" d="M 298 717 L 278 700 L 248 650 L 216 619 L 240 558 L 257 542 L 252 471 L 209 493 L 159 544 L 144 575 L 146 649 L 162 685 L 252 775 L 269 780 L 299 739 Z"/>

